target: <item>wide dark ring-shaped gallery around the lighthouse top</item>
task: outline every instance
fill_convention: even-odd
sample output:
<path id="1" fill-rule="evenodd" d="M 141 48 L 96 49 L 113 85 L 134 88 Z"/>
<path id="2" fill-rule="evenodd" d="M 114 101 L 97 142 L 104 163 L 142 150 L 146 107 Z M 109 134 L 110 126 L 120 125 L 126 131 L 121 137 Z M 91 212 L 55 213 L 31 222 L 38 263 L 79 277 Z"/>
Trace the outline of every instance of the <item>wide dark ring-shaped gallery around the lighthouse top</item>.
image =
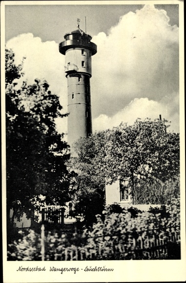
<path id="1" fill-rule="evenodd" d="M 63 55 L 65 55 L 66 50 L 70 48 L 87 48 L 91 51 L 92 55 L 97 53 L 97 45 L 88 39 L 64 40 L 59 44 L 59 51 Z"/>

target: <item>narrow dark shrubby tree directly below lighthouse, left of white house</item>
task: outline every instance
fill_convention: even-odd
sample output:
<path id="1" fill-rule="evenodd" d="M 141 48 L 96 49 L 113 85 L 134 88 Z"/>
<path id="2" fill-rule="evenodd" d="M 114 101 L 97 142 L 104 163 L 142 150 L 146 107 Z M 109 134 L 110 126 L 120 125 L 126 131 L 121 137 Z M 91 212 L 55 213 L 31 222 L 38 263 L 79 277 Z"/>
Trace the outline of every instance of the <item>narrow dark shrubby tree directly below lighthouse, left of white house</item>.
<path id="1" fill-rule="evenodd" d="M 77 220 L 83 218 L 83 224 L 90 226 L 104 208 L 105 180 L 92 164 L 95 156 L 93 140 L 81 138 L 74 148 L 78 157 L 71 157 L 67 162 L 68 169 L 76 172 L 69 191 L 73 203 L 71 216 Z"/>

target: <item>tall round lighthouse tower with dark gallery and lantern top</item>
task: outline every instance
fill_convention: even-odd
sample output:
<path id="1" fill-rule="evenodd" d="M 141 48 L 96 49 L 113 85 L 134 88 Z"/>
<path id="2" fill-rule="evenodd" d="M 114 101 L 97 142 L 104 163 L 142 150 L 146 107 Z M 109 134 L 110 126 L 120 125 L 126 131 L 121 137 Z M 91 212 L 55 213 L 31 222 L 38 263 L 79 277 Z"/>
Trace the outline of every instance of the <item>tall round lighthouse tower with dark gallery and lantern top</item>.
<path id="1" fill-rule="evenodd" d="M 68 144 L 92 133 L 90 78 L 91 58 L 97 53 L 92 37 L 77 28 L 64 35 L 59 51 L 65 55 L 68 95 Z"/>

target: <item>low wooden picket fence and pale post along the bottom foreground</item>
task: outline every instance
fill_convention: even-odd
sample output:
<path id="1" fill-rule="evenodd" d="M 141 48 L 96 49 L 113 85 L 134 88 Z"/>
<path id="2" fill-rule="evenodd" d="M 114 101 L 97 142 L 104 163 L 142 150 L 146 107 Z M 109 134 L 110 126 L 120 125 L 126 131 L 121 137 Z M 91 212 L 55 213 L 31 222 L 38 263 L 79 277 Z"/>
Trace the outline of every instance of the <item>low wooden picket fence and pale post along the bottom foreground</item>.
<path id="1" fill-rule="evenodd" d="M 41 258 L 45 260 L 44 225 L 41 227 Z M 68 246 L 55 253 L 55 261 L 85 260 L 154 260 L 180 259 L 180 234 L 173 232 L 137 239 L 129 236 L 126 243 L 116 244 L 103 242 L 95 246 Z"/>

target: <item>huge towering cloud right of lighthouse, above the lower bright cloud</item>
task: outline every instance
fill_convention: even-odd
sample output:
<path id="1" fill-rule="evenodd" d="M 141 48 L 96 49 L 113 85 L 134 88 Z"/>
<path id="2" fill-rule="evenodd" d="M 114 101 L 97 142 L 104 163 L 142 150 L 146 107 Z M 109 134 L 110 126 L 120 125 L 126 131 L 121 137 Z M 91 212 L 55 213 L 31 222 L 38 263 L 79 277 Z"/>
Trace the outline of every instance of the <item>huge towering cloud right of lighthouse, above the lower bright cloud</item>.
<path id="1" fill-rule="evenodd" d="M 101 109 L 114 115 L 134 98 L 168 100 L 178 92 L 178 27 L 168 20 L 165 11 L 146 5 L 121 17 L 107 37 L 100 33 L 93 38 L 98 45 L 92 59 L 94 116 Z"/>

